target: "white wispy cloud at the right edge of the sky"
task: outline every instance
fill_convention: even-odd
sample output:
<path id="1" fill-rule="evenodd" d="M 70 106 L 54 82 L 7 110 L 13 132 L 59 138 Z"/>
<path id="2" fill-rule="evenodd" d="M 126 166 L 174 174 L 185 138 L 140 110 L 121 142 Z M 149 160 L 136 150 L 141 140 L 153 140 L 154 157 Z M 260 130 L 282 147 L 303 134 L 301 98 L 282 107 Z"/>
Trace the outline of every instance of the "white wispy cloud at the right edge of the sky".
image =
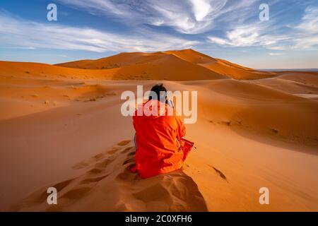
<path id="1" fill-rule="evenodd" d="M 318 7 L 308 6 L 294 26 L 270 22 L 238 25 L 225 37 L 208 36 L 208 42 L 228 47 L 265 47 L 272 50 L 310 49 L 318 45 Z"/>

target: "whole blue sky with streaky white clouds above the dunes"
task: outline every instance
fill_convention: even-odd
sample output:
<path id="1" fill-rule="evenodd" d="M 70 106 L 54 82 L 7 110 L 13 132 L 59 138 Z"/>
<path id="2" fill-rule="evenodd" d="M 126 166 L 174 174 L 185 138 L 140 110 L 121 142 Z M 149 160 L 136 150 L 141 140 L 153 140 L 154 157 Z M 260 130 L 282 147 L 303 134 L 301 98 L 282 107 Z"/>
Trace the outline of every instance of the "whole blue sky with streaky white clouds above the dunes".
<path id="1" fill-rule="evenodd" d="M 57 21 L 47 5 L 57 5 Z M 259 20 L 260 4 L 269 20 Z M 196 49 L 256 69 L 318 68 L 318 1 L 2 0 L 0 60 L 56 64 Z"/>

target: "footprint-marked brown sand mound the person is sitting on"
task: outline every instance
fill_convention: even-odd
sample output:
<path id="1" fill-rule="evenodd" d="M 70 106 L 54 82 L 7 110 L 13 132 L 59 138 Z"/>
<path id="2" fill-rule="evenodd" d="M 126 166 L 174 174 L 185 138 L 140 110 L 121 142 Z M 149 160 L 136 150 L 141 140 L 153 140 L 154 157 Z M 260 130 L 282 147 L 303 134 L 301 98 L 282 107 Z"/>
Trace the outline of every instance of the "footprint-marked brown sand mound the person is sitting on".
<path id="1" fill-rule="evenodd" d="M 47 187 L 28 196 L 14 210 L 64 211 L 64 210 L 160 210 L 160 211 L 206 211 L 206 203 L 193 179 L 182 170 L 141 179 L 127 169 L 134 162 L 135 148 L 131 141 L 117 143 L 108 154 L 101 153 L 80 162 L 78 166 L 89 167 L 80 176 L 57 184 L 59 204 L 47 206 Z M 109 153 L 111 151 L 111 153 Z M 113 163 L 114 162 L 114 163 Z M 118 200 L 112 206 L 105 198 L 98 198 L 110 187 Z M 117 201 L 116 201 L 117 200 Z M 121 200 L 125 200 L 125 203 Z M 97 206 L 88 206 L 95 202 Z M 79 207 L 81 206 L 81 207 Z M 99 209 L 102 208 L 102 209 Z"/>

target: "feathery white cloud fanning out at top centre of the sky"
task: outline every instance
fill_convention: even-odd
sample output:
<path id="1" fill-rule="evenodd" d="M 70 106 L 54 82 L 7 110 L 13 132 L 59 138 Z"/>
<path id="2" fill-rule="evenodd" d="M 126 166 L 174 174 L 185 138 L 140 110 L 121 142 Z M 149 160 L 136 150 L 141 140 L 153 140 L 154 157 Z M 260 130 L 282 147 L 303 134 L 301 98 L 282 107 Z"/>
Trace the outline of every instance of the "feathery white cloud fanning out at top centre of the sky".
<path id="1" fill-rule="evenodd" d="M 197 34 L 211 30 L 218 20 L 242 18 L 255 0 L 58 0 L 90 13 L 106 14 L 131 25 L 170 26 L 178 32 Z M 240 15 L 240 16 L 238 16 Z M 244 15 L 247 15 L 246 13 Z"/>

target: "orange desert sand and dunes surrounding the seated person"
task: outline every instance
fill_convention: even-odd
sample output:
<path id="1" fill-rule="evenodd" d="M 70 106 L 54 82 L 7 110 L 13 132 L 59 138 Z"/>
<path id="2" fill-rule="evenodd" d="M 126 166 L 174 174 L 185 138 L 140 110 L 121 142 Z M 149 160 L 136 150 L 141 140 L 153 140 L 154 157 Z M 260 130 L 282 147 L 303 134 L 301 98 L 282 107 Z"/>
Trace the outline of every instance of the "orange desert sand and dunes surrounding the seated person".
<path id="1" fill-rule="evenodd" d="M 140 179 L 124 90 L 198 91 L 196 149 Z M 0 61 L 1 211 L 318 211 L 318 73 L 192 49 L 49 65 Z M 47 188 L 58 205 L 47 205 Z M 259 204 L 259 189 L 270 204 Z"/>

